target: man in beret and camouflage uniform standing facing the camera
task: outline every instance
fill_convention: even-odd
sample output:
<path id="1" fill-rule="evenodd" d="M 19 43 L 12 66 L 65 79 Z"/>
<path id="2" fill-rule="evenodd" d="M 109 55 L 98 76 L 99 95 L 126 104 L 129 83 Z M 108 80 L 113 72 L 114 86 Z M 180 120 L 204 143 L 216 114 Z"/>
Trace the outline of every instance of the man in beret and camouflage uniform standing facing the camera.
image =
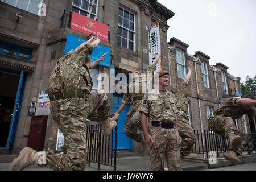
<path id="1" fill-rule="evenodd" d="M 167 71 L 159 71 L 156 77 L 159 94 L 155 90 L 147 92 L 139 111 L 141 112 L 144 138 L 150 146 L 150 169 L 164 170 L 164 159 L 168 171 L 181 170 L 179 135 L 174 129 L 179 110 L 176 97 L 166 90 L 169 76 Z M 156 75 L 157 76 L 157 75 Z M 147 130 L 147 117 L 151 123 L 150 134 Z"/>

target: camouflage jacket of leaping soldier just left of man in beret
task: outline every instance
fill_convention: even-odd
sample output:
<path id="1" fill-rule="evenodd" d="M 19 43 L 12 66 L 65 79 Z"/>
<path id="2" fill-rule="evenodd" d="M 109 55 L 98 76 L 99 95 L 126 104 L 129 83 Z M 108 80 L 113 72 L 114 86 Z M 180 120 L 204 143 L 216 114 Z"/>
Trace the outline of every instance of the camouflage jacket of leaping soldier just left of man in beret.
<path id="1" fill-rule="evenodd" d="M 142 92 L 142 86 L 147 86 L 147 76 L 149 74 L 152 75 L 155 71 L 155 65 L 150 65 L 147 68 L 147 72 L 145 74 L 141 74 L 136 78 L 133 78 L 133 82 L 127 85 L 127 92 L 123 95 L 122 103 L 128 105 L 131 102 L 130 110 L 127 113 L 127 118 L 130 114 L 135 113 L 138 110 L 138 107 L 141 105 L 142 99 L 144 97 L 144 93 Z M 133 92 L 133 93 L 131 93 Z M 138 98 L 138 100 L 134 100 Z"/>

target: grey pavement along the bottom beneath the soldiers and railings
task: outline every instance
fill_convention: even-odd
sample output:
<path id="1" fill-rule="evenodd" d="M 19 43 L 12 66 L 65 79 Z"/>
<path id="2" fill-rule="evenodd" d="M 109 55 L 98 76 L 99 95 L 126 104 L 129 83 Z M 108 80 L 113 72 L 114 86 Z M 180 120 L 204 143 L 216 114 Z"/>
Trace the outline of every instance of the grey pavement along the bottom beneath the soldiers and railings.
<path id="1" fill-rule="evenodd" d="M 7 171 L 10 162 L 0 163 L 0 171 Z M 238 164 L 226 167 L 218 167 L 208 169 L 208 165 L 200 162 L 191 162 L 188 160 L 181 160 L 181 167 L 183 171 L 256 171 L 256 162 Z M 165 164 L 167 170 L 167 165 Z M 114 168 L 110 166 L 100 165 L 100 171 L 113 171 Z M 31 165 L 25 168 L 23 171 L 52 171 L 46 167 L 39 167 Z M 86 164 L 85 171 L 98 171 L 97 163 Z M 124 158 L 117 158 L 117 171 L 150 171 L 150 157 L 145 156 L 131 156 Z"/>

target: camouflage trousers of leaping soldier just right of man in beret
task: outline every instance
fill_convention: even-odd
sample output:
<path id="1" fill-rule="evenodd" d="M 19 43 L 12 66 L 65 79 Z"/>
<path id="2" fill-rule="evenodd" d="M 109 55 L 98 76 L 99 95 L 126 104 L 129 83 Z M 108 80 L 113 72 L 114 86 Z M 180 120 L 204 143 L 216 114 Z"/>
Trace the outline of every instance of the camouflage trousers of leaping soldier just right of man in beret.
<path id="1" fill-rule="evenodd" d="M 196 137 L 194 131 L 188 121 L 187 114 L 183 111 L 177 114 L 178 122 L 178 131 L 179 135 L 182 138 L 180 152 L 181 155 L 187 156 L 191 153 L 193 145 L 196 143 Z"/>

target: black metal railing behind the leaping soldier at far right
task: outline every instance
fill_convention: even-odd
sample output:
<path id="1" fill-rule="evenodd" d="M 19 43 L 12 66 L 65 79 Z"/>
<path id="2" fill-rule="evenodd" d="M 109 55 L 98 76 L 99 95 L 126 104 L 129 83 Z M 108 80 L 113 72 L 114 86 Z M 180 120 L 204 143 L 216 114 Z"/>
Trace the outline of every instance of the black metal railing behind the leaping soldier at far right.
<path id="1" fill-rule="evenodd" d="M 196 143 L 192 148 L 192 153 L 203 154 L 203 157 L 208 158 L 209 152 L 214 151 L 217 154 L 217 157 L 220 157 L 220 154 L 228 152 L 230 148 L 230 142 L 228 139 L 221 137 L 220 135 L 209 130 L 194 130 L 196 137 Z M 256 137 L 256 136 L 255 136 Z M 243 146 L 243 152 L 255 151 L 253 143 L 254 135 L 247 134 L 247 140 Z M 255 139 L 255 138 L 254 138 Z"/>

